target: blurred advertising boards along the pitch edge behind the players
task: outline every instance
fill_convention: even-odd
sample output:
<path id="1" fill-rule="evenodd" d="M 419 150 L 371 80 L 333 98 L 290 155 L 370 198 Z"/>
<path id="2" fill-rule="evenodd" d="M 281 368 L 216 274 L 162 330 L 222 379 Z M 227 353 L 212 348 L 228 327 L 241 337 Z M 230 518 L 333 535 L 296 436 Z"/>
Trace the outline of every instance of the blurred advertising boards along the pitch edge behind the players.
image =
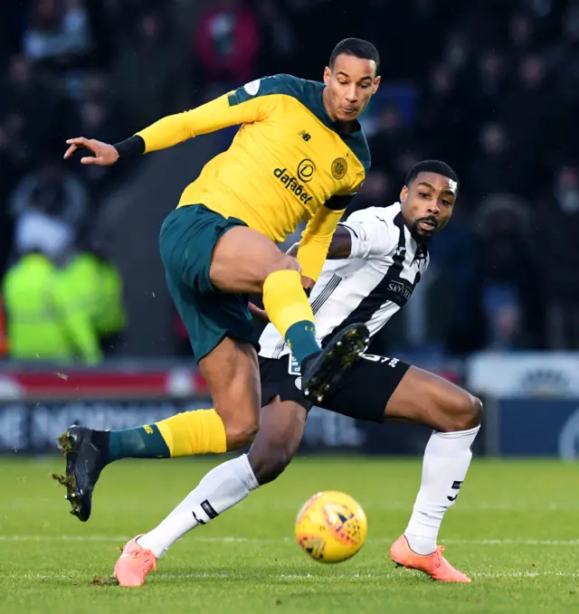
<path id="1" fill-rule="evenodd" d="M 579 354 L 477 354 L 463 367 L 467 387 L 485 403 L 476 453 L 579 458 Z M 438 372 L 460 382 L 448 365 Z M 183 364 L 66 373 L 10 367 L 0 374 L 0 453 L 56 452 L 56 437 L 72 423 L 124 429 L 210 406 L 203 378 Z M 418 426 L 366 424 L 314 408 L 300 451 L 422 455 L 429 436 Z"/>

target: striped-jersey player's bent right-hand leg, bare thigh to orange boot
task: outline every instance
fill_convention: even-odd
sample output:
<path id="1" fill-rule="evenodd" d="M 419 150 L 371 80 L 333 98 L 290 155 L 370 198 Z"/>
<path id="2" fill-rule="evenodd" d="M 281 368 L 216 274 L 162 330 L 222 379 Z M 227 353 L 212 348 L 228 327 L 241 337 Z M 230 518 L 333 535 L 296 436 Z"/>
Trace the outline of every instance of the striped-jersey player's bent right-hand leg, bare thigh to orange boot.
<path id="1" fill-rule="evenodd" d="M 424 451 L 422 484 L 404 534 L 392 545 L 397 565 L 434 580 L 470 582 L 442 556 L 436 541 L 442 518 L 467 475 L 482 417 L 482 404 L 441 377 L 411 367 L 388 401 L 384 419 L 425 424 L 434 432 Z"/>

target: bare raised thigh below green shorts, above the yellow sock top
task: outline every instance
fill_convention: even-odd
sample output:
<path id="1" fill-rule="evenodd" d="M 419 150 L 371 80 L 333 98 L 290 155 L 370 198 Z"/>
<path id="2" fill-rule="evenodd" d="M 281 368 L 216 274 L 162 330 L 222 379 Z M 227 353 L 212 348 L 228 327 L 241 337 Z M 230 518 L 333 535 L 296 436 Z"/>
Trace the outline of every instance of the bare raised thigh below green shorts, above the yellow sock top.
<path id="1" fill-rule="evenodd" d="M 244 226 L 224 232 L 211 260 L 210 279 L 223 292 L 261 294 L 263 282 L 277 270 L 299 270 L 298 260 L 271 239 Z"/>

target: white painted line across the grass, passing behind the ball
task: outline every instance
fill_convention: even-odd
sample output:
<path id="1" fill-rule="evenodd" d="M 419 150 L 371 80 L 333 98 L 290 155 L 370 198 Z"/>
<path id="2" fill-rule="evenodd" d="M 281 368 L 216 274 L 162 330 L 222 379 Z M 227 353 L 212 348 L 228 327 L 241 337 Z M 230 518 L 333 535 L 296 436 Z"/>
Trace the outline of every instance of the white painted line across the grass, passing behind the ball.
<path id="1" fill-rule="evenodd" d="M 391 543 L 393 537 L 379 537 L 372 539 L 370 543 Z M 105 542 L 123 543 L 131 539 L 130 535 L 0 535 L 0 542 Z M 278 539 L 262 537 L 193 537 L 198 543 L 295 543 L 291 537 Z M 579 539 L 575 540 L 551 540 L 551 539 L 442 539 L 441 543 L 456 545 L 480 545 L 480 546 L 579 546 Z"/>

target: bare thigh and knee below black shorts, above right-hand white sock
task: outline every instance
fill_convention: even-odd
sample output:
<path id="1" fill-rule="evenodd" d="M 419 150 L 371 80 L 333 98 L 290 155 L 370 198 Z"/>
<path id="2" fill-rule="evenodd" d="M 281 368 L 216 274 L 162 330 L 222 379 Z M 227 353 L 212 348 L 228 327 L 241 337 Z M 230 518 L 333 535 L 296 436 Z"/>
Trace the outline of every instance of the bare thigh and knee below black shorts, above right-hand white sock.
<path id="1" fill-rule="evenodd" d="M 479 399 L 439 375 L 410 367 L 386 404 L 386 420 L 411 421 L 451 432 L 479 426 Z"/>

